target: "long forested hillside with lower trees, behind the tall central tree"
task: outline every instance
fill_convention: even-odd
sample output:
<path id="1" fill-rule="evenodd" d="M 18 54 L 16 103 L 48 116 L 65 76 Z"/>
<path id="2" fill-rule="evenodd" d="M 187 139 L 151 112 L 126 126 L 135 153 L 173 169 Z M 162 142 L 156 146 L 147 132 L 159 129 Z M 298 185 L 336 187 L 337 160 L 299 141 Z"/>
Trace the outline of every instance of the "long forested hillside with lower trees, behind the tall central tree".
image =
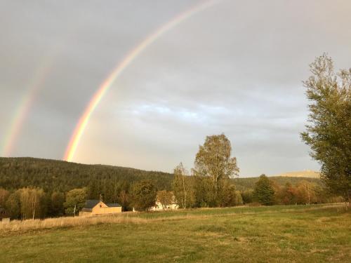
<path id="1" fill-rule="evenodd" d="M 118 166 L 0 158 L 0 207 L 6 208 L 14 219 L 44 218 L 75 214 L 76 206 L 77 210 L 83 208 L 86 198 L 102 198 L 109 203 L 120 203 L 124 210 L 131 210 L 143 206 L 147 194 L 150 194 L 150 205 L 156 200 L 156 195 L 167 203 L 174 194 L 183 208 L 225 207 L 259 201 L 259 192 L 255 191 L 260 189 L 259 180 L 264 179 L 226 178 L 220 182 L 218 205 L 213 205 L 210 202 L 213 197 L 211 188 L 208 188 L 211 178 L 182 176 L 183 172 L 173 175 Z M 326 193 L 322 181 L 316 178 L 270 177 L 265 182 L 261 188 L 263 192 L 265 187 L 271 189 L 270 204 L 335 201 Z M 138 191 L 143 192 L 140 202 Z M 168 201 L 165 196 L 168 196 Z"/>

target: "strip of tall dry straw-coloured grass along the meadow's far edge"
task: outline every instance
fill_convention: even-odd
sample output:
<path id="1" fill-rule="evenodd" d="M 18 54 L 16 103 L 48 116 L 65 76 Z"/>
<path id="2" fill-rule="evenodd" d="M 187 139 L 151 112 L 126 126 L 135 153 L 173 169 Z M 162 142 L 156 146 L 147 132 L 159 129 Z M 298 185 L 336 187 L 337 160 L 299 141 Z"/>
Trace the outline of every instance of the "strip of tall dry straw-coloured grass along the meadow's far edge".
<path id="1" fill-rule="evenodd" d="M 239 210 L 244 208 L 244 210 Z M 277 208 L 279 208 L 277 210 Z M 298 207 L 296 207 L 298 208 Z M 249 207 L 237 208 L 202 208 L 198 210 L 179 210 L 176 212 L 157 212 L 157 213 L 122 213 L 118 215 L 98 215 L 93 217 L 58 217 L 47 218 L 45 220 L 13 220 L 10 223 L 0 224 L 0 235 L 22 234 L 27 231 L 41 229 L 55 229 L 65 227 L 84 227 L 97 224 L 146 224 L 150 222 L 166 222 L 178 220 L 206 220 L 213 217 L 244 217 L 249 215 L 267 215 L 274 213 L 305 213 L 313 210 L 324 210 L 336 208 L 338 212 L 347 210 L 345 203 L 326 204 L 318 206 L 309 206 L 307 208 L 282 208 L 279 206 L 267 207 L 262 210 Z M 220 213 L 227 210 L 226 213 Z M 209 213 L 202 213 L 209 212 Z M 331 217 L 320 217 L 317 223 L 328 222 Z M 218 229 L 216 229 L 218 230 Z"/>

